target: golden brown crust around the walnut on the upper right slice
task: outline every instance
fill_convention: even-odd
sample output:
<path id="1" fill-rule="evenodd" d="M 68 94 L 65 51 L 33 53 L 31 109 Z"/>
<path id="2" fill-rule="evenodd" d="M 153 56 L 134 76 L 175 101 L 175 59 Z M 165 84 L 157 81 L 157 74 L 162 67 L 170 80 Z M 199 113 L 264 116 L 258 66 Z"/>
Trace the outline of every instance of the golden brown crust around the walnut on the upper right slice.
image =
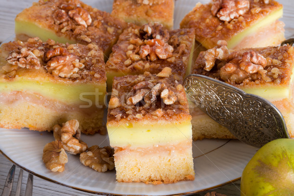
<path id="1" fill-rule="evenodd" d="M 265 4 L 262 0 L 249 0 L 249 2 L 249 11 L 229 23 L 223 22 L 217 16 L 212 15 L 212 3 L 198 3 L 185 16 L 180 27 L 194 28 L 196 30 L 196 40 L 206 48 L 213 48 L 219 40 L 228 41 L 237 33 L 256 23 L 256 21 L 283 7 L 282 4 L 274 0 L 270 0 L 269 4 Z"/>

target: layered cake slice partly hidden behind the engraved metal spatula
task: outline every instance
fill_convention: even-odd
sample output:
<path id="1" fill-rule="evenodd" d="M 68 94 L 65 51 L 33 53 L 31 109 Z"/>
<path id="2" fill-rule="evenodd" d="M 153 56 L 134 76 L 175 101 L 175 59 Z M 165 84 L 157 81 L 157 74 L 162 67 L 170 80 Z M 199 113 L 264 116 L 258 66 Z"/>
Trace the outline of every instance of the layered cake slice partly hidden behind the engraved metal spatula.
<path id="1" fill-rule="evenodd" d="M 234 85 L 246 93 L 270 100 L 283 114 L 290 137 L 294 137 L 294 48 L 285 45 L 228 50 L 225 41 L 201 52 L 192 73 L 206 75 Z M 234 138 L 220 124 L 198 108 L 193 117 L 193 138 Z"/>

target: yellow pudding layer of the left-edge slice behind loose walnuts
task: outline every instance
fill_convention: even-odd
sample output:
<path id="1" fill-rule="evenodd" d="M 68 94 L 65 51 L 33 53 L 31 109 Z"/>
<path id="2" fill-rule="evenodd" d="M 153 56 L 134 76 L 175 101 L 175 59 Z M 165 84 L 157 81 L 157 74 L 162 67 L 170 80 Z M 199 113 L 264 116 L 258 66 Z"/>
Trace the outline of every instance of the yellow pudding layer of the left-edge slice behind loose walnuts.
<path id="1" fill-rule="evenodd" d="M 106 84 L 58 84 L 44 81 L 5 81 L 0 82 L 0 93 L 11 91 L 37 92 L 51 99 L 57 99 L 69 104 L 91 103 L 104 105 Z"/>

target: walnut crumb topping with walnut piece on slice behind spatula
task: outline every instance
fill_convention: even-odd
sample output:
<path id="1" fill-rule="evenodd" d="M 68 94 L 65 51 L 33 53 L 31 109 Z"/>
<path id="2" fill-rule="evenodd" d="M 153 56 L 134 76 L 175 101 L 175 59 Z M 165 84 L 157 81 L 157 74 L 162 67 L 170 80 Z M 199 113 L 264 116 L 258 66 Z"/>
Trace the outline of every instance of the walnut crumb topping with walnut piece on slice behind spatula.
<path id="1" fill-rule="evenodd" d="M 215 49 L 219 49 L 220 46 Z M 207 75 L 232 85 L 273 83 L 289 84 L 294 48 L 290 45 L 256 49 L 231 50 L 206 70 L 208 50 L 196 59 L 192 73 Z"/>

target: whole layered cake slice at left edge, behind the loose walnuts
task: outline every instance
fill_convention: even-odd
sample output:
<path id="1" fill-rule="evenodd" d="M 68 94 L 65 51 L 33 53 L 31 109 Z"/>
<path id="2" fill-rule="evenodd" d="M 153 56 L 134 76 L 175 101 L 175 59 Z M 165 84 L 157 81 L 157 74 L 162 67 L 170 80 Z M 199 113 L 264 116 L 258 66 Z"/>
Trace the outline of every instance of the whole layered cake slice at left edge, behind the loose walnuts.
<path id="1" fill-rule="evenodd" d="M 0 127 L 50 131 L 76 119 L 81 132 L 105 133 L 106 73 L 94 44 L 29 38 L 0 47 Z"/>

